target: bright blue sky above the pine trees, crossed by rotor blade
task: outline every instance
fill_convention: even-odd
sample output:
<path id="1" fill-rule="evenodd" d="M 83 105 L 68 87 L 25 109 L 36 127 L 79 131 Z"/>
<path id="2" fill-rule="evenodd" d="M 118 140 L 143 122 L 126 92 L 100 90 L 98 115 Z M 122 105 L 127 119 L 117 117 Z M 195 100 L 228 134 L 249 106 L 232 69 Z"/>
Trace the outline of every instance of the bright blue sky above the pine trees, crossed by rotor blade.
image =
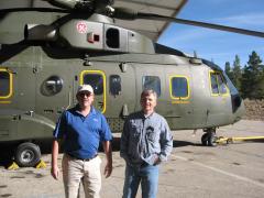
<path id="1" fill-rule="evenodd" d="M 177 18 L 264 32 L 264 0 L 188 0 Z M 158 43 L 213 61 L 224 68 L 239 55 L 241 66 L 255 51 L 264 62 L 264 37 L 170 24 Z"/>

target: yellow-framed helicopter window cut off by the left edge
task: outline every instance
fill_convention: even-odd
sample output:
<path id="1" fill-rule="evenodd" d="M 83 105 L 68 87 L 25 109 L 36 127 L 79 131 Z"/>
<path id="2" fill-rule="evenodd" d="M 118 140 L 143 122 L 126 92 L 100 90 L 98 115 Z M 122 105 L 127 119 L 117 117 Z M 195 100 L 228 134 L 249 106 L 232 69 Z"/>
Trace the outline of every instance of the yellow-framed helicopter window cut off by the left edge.
<path id="1" fill-rule="evenodd" d="M 0 98 L 9 98 L 12 94 L 12 76 L 6 70 L 0 70 Z"/>

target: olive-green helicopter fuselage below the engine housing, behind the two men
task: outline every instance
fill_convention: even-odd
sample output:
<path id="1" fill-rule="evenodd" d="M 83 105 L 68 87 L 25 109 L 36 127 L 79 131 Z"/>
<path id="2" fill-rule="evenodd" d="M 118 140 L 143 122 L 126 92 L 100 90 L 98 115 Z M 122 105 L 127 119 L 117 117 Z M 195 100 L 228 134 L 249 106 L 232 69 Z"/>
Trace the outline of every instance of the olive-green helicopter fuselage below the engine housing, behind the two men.
<path id="1" fill-rule="evenodd" d="M 8 84 L 7 96 L 0 98 L 1 141 L 52 136 L 59 114 L 76 105 L 80 84 L 92 85 L 95 107 L 113 132 L 122 131 L 123 119 L 141 109 L 140 94 L 145 88 L 158 94 L 156 111 L 172 130 L 215 128 L 241 119 L 243 103 L 233 112 L 227 84 L 218 82 L 219 92 L 213 92 L 212 79 L 223 75 L 206 64 L 165 54 L 57 58 L 62 53 L 30 46 L 1 64 L 0 74 Z"/>

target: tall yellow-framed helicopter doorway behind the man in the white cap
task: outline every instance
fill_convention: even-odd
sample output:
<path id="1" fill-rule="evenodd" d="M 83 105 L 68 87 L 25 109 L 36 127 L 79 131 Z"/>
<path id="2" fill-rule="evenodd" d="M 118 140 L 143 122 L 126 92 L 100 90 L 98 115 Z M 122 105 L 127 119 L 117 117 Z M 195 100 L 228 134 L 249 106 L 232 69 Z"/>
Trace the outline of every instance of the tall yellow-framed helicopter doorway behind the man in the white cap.
<path id="1" fill-rule="evenodd" d="M 106 75 L 101 70 L 82 70 L 80 73 L 80 85 L 88 84 L 94 88 L 94 107 L 105 113 L 106 111 Z"/>

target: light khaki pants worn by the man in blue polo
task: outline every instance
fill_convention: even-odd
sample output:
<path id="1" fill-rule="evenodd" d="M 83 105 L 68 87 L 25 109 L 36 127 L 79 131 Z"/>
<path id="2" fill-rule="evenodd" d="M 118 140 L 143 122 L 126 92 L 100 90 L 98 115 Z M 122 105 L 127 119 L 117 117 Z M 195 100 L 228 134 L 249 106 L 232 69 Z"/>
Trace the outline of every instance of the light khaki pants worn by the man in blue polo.
<path id="1" fill-rule="evenodd" d="M 86 198 L 100 198 L 101 189 L 101 158 L 90 161 L 76 160 L 67 154 L 63 157 L 63 179 L 66 198 L 77 198 L 82 182 Z"/>

